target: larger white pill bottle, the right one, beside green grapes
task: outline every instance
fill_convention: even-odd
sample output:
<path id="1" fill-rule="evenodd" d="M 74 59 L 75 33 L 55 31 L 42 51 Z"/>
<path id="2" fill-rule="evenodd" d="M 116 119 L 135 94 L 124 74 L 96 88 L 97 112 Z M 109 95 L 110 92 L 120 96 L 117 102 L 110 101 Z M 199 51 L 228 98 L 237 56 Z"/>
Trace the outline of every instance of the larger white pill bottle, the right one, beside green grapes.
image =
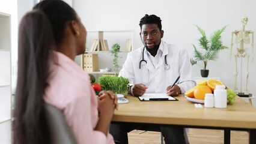
<path id="1" fill-rule="evenodd" d="M 225 85 L 216 85 L 214 94 L 214 106 L 216 108 L 227 107 L 227 90 Z"/>

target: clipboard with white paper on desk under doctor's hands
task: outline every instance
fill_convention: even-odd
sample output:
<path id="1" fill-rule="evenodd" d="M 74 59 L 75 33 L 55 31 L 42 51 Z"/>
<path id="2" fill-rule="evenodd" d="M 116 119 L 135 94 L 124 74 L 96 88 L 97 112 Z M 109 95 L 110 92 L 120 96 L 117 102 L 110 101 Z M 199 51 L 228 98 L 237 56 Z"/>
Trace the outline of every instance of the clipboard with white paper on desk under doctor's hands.
<path id="1" fill-rule="evenodd" d="M 178 101 L 176 98 L 166 94 L 148 93 L 138 97 L 140 101 Z"/>

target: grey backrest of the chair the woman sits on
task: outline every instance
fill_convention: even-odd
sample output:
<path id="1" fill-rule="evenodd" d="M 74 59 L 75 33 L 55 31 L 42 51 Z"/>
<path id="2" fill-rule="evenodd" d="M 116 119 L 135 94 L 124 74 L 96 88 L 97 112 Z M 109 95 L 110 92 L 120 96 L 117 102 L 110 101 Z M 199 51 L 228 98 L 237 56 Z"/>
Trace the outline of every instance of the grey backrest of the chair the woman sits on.
<path id="1" fill-rule="evenodd" d="M 76 144 L 73 132 L 67 124 L 62 112 L 56 107 L 45 103 L 46 121 L 52 144 Z"/>

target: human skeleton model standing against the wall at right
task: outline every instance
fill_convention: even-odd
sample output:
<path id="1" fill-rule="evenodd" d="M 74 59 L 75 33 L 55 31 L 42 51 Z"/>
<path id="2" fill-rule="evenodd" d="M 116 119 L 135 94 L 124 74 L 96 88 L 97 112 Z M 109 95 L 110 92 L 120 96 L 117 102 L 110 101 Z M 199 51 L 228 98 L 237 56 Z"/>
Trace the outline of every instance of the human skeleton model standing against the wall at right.
<path id="1" fill-rule="evenodd" d="M 246 31 L 245 30 L 245 25 L 248 22 L 248 17 L 243 17 L 242 18 L 242 23 L 243 23 L 243 28 L 240 31 L 233 31 L 232 32 L 232 39 L 231 39 L 231 52 L 230 56 L 232 55 L 232 47 L 233 47 L 233 35 L 236 36 L 236 44 L 240 43 L 240 47 L 237 48 L 237 53 L 234 55 L 235 62 L 236 62 L 236 71 L 234 73 L 234 91 L 238 91 L 237 89 L 237 58 L 246 58 L 246 83 L 245 83 L 245 94 L 248 94 L 248 77 L 249 77 L 249 71 L 248 71 L 248 63 L 249 63 L 249 54 L 247 53 L 248 48 L 244 47 L 244 44 L 249 44 L 250 43 L 250 37 L 249 35 L 252 35 L 252 61 L 254 61 L 254 31 Z M 242 69 L 242 67 L 241 67 Z"/>

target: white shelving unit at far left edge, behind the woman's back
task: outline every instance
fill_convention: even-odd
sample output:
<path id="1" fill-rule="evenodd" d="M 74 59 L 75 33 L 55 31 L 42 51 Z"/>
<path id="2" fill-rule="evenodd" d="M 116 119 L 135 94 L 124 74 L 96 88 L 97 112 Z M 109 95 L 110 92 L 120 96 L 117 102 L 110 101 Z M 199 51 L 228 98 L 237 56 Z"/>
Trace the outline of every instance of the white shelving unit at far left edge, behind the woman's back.
<path id="1" fill-rule="evenodd" d="M 11 143 L 11 22 L 0 12 L 0 140 Z"/>

